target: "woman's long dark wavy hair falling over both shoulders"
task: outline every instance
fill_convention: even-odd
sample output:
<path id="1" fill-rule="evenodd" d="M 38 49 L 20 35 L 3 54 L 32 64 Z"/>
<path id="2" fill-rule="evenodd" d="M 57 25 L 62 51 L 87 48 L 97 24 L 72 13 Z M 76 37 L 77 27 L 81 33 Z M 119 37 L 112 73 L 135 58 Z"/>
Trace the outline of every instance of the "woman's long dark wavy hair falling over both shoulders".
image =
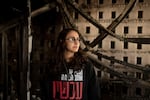
<path id="1" fill-rule="evenodd" d="M 50 59 L 50 65 L 49 65 L 51 71 L 53 72 L 61 73 L 65 70 L 64 66 L 68 65 L 64 58 L 64 50 L 65 50 L 64 41 L 67 34 L 70 31 L 76 31 L 79 34 L 78 30 L 76 29 L 67 28 L 67 29 L 63 29 L 58 35 L 56 46 L 53 52 L 53 56 Z M 69 62 L 69 67 L 74 70 L 81 70 L 84 67 L 85 61 L 87 61 L 87 57 L 83 52 L 83 50 L 79 48 L 78 52 L 74 54 L 74 57 L 72 58 L 71 62 Z"/>

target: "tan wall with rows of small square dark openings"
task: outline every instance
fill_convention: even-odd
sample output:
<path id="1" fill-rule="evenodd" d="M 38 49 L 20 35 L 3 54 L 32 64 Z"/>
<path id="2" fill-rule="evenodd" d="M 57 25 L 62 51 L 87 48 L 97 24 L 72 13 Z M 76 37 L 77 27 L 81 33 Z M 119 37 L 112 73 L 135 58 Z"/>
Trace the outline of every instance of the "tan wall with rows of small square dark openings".
<path id="1" fill-rule="evenodd" d="M 125 8 L 131 4 L 132 0 L 76 0 L 76 2 L 84 8 L 85 13 L 105 28 L 111 29 L 113 21 L 126 11 Z M 95 27 L 83 16 L 74 13 L 74 21 L 78 29 L 87 42 L 91 43 L 92 47 L 95 46 L 94 50 L 100 53 L 98 58 L 101 62 L 119 73 L 147 82 L 149 82 L 149 76 L 144 68 L 149 68 L 149 4 L 148 0 L 137 0 L 132 5 L 134 7 L 130 13 L 111 30 L 116 36 L 103 36 L 104 31 L 101 28 Z M 97 36 L 101 36 L 101 41 L 93 46 L 92 42 Z M 123 41 L 121 37 L 124 37 Z M 101 67 L 103 69 L 103 65 Z M 137 100 L 137 98 L 143 100 L 149 97 L 149 87 L 141 85 L 141 82 L 125 85 L 114 73 L 98 70 L 97 74 L 103 80 L 102 82 L 108 80 L 107 92 L 114 100 L 121 96 L 123 97 L 121 100 L 125 97 L 126 100 Z M 104 91 L 107 89 L 104 88 Z"/>

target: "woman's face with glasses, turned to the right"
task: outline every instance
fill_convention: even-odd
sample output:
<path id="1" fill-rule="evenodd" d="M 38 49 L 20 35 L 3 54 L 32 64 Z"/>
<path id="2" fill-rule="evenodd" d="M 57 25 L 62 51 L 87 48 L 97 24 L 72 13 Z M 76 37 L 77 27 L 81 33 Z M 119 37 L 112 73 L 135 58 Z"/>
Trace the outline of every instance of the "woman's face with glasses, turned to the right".
<path id="1" fill-rule="evenodd" d="M 80 46 L 80 38 L 79 34 L 72 30 L 70 31 L 65 39 L 65 47 L 67 52 L 78 52 Z"/>

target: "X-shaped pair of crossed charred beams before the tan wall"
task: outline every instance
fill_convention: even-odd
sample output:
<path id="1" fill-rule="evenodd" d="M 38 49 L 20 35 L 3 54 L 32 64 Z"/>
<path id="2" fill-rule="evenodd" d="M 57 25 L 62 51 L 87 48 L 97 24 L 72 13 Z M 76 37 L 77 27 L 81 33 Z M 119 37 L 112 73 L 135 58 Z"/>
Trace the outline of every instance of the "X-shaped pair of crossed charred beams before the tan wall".
<path id="1" fill-rule="evenodd" d="M 77 11 L 81 16 L 83 16 L 86 20 L 88 20 L 90 23 L 92 23 L 97 28 L 101 29 L 101 35 L 99 35 L 89 46 L 94 47 L 97 45 L 99 41 L 104 39 L 108 34 L 115 37 L 116 39 L 120 41 L 125 42 L 132 42 L 132 43 L 139 43 L 139 41 L 136 41 L 135 39 L 128 39 L 126 37 L 114 34 L 112 31 L 114 28 L 129 14 L 129 12 L 133 9 L 136 0 L 131 0 L 126 7 L 126 9 L 108 26 L 108 28 L 103 27 L 101 24 L 99 24 L 93 17 L 89 16 L 88 14 L 84 13 L 84 11 L 79 7 L 79 5 L 73 1 L 73 0 L 66 0 L 67 4 L 69 4 L 75 11 Z M 142 43 L 142 42 L 140 42 Z"/>

